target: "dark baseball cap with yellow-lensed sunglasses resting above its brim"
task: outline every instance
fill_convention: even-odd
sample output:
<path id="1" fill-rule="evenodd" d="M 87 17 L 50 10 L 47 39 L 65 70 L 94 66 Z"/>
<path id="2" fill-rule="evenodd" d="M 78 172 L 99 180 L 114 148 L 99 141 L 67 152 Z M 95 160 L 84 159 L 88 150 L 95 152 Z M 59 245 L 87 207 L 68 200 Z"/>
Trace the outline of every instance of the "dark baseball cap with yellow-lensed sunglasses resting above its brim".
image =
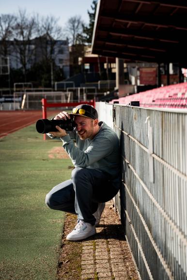
<path id="1" fill-rule="evenodd" d="M 98 113 L 94 107 L 88 104 L 80 104 L 76 108 L 72 109 L 70 116 L 83 116 L 89 119 L 98 119 Z"/>

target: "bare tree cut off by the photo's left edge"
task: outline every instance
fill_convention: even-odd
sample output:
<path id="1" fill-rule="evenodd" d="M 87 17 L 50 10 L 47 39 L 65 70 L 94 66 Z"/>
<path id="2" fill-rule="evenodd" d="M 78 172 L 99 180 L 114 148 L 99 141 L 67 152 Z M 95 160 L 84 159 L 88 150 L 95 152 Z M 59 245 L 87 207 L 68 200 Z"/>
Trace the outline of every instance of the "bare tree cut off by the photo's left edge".
<path id="1" fill-rule="evenodd" d="M 7 56 L 9 54 L 8 41 L 13 38 L 16 16 L 0 15 L 0 54 Z"/>

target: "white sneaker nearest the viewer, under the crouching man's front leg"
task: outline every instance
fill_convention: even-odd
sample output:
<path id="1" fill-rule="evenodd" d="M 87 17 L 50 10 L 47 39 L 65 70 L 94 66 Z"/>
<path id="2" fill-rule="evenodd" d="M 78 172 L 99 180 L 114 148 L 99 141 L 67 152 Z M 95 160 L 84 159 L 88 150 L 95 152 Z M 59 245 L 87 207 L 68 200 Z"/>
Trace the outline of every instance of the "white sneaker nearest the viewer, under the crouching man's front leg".
<path id="1" fill-rule="evenodd" d="M 95 233 L 95 226 L 91 225 L 90 223 L 86 223 L 82 220 L 79 220 L 75 229 L 67 235 L 66 239 L 69 241 L 82 240 L 94 235 Z"/>

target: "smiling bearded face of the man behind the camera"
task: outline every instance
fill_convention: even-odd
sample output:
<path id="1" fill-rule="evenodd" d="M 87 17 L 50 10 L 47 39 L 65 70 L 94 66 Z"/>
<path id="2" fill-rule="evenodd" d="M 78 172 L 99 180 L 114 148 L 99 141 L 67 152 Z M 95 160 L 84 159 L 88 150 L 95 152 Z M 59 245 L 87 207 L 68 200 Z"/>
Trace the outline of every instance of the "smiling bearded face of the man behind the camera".
<path id="1" fill-rule="evenodd" d="M 75 117 L 76 128 L 78 131 L 78 136 L 81 140 L 87 138 L 92 139 L 94 133 L 94 120 L 83 116 Z"/>

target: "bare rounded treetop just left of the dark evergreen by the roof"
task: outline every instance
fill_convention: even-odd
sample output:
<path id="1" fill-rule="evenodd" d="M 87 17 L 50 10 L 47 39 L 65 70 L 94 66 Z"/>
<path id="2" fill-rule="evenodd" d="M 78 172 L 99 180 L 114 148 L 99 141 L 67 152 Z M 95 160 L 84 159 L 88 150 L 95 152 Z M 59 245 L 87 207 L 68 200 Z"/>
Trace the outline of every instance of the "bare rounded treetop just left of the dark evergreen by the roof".
<path id="1" fill-rule="evenodd" d="M 83 24 L 81 16 L 72 16 L 68 19 L 65 32 L 69 38 L 70 45 L 82 44 L 81 33 L 83 31 Z"/>

